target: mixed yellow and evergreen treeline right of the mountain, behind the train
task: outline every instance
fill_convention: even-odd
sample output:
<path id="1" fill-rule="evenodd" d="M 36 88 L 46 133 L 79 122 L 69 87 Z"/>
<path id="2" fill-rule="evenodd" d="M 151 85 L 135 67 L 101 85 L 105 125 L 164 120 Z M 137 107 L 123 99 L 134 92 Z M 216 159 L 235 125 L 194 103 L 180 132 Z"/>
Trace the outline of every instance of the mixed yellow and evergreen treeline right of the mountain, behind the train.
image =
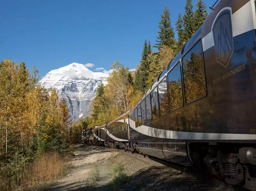
<path id="1" fill-rule="evenodd" d="M 153 52 L 150 41 L 145 40 L 141 61 L 135 71 L 130 71 L 121 63 L 115 62 L 111 66 L 113 72 L 107 78 L 108 84 L 105 86 L 101 84 L 97 90 L 92 101 L 91 114 L 73 123 L 73 129 L 82 130 L 84 127 L 91 128 L 105 124 L 137 103 L 207 17 L 206 5 L 202 0 L 197 0 L 195 11 L 193 11 L 192 0 L 186 1 L 184 9 L 184 15 L 179 14 L 175 23 L 178 34 L 178 39 L 175 39 L 170 10 L 164 6 L 164 11 L 160 15 L 158 36 L 153 46 L 158 51 Z M 82 124 L 86 125 L 82 127 Z"/>

